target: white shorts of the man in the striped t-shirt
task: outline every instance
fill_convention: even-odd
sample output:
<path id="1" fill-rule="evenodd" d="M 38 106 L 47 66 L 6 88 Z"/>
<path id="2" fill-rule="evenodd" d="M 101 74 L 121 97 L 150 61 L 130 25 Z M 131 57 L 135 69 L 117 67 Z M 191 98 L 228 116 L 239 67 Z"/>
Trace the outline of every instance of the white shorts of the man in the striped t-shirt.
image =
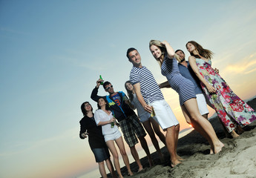
<path id="1" fill-rule="evenodd" d="M 171 107 L 165 100 L 153 102 L 151 106 L 153 106 L 154 113 L 156 114 L 153 118 L 159 123 L 163 130 L 179 124 L 174 113 L 171 111 Z"/>

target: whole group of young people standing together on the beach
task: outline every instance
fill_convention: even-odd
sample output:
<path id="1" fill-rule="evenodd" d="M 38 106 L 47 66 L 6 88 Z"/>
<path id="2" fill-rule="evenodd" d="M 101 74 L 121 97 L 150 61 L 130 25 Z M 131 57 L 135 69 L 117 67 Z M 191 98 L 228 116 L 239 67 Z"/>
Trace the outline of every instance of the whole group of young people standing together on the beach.
<path id="1" fill-rule="evenodd" d="M 114 167 L 118 176 L 122 177 L 114 142 L 116 142 L 122 155 L 128 175 L 133 175 L 122 134 L 118 127 L 121 128 L 125 142 L 128 144 L 135 162 L 137 162 L 138 171 L 143 169 L 135 148 L 138 139 L 148 157 L 149 165 L 154 165 L 144 138 L 145 131 L 150 136 L 161 161 L 164 158 L 155 133 L 168 149 L 171 156 L 171 167 L 183 161 L 177 154 L 180 124 L 168 103 L 165 102 L 160 88 L 171 87 L 177 91 L 186 122 L 208 140 L 210 154 L 218 154 L 224 144 L 217 138 L 208 121 L 209 111 L 206 103 L 214 108 L 224 131 L 233 138 L 243 133 L 241 126 L 249 125 L 255 121 L 255 111 L 229 88 L 219 71 L 211 67 L 213 56 L 211 50 L 204 49 L 194 41 L 188 42 L 186 48 L 191 54 L 188 61 L 185 60 L 183 50 L 174 51 L 166 41 L 151 40 L 149 42 L 149 49 L 159 63 L 161 73 L 168 80 L 168 82 L 160 85 L 157 84 L 151 71 L 142 65 L 138 50 L 133 47 L 129 48 L 126 56 L 133 67 L 131 68 L 130 80 L 125 82 L 128 97 L 122 91 L 115 92 L 111 82 L 103 83 L 103 88 L 109 95 L 98 96 L 99 86 L 103 81 L 102 79 L 96 81 L 91 99 L 97 102 L 98 109 L 93 113 L 93 108 L 89 102 L 84 102 L 81 105 L 84 117 L 80 121 L 79 136 L 81 139 L 89 137 L 89 144 L 96 162 L 99 163 L 102 177 L 107 177 L 104 161 L 113 177 L 117 177 Z M 139 117 L 134 113 L 135 108 L 137 108 Z M 159 125 L 165 131 L 165 136 L 160 131 Z M 114 167 L 108 149 L 114 157 Z"/>

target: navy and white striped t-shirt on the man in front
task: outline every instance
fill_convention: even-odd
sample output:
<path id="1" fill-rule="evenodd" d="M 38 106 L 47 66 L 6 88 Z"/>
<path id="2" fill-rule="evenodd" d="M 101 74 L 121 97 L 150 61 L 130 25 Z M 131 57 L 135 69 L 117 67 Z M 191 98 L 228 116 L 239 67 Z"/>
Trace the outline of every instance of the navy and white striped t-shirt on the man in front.
<path id="1" fill-rule="evenodd" d="M 130 73 L 131 84 L 140 83 L 140 92 L 147 104 L 155 101 L 163 100 L 163 93 L 157 85 L 154 76 L 147 67 L 132 67 Z"/>

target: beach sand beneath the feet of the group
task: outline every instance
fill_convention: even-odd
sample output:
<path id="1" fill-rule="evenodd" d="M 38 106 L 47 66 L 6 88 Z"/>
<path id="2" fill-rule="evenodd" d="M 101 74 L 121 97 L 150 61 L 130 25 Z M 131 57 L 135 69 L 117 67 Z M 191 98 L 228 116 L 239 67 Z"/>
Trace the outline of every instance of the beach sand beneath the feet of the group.
<path id="1" fill-rule="evenodd" d="M 256 99 L 247 102 L 256 110 Z M 161 150 L 165 162 L 161 163 L 156 152 L 151 154 L 155 165 L 149 168 L 148 160 L 141 160 L 144 170 L 131 178 L 165 178 L 165 177 L 256 177 L 256 123 L 244 128 L 246 131 L 237 139 L 226 138 L 217 117 L 210 120 L 217 137 L 225 144 L 219 154 L 209 154 L 209 144 L 197 131 L 191 131 L 178 141 L 177 153 L 186 159 L 182 164 L 171 168 L 170 156 L 165 147 Z M 126 168 L 122 175 L 127 176 Z M 131 170 L 138 170 L 135 162 Z M 110 175 L 108 175 L 111 177 Z"/>

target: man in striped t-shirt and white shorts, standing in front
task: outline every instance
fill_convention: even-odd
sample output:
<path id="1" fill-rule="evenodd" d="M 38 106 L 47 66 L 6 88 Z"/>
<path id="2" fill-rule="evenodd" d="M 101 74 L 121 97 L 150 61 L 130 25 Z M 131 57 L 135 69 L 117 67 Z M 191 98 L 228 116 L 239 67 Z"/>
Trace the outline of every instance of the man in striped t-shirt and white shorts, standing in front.
<path id="1" fill-rule="evenodd" d="M 133 64 L 130 73 L 130 80 L 134 85 L 135 93 L 140 104 L 149 113 L 154 113 L 157 122 L 163 131 L 166 131 L 165 142 L 169 154 L 171 155 L 171 167 L 180 164 L 180 156 L 177 155 L 177 141 L 180 131 L 180 124 L 177 121 L 170 106 L 163 98 L 159 86 L 157 85 L 151 71 L 142 66 L 140 53 L 133 47 L 127 50 L 126 56 Z"/>

